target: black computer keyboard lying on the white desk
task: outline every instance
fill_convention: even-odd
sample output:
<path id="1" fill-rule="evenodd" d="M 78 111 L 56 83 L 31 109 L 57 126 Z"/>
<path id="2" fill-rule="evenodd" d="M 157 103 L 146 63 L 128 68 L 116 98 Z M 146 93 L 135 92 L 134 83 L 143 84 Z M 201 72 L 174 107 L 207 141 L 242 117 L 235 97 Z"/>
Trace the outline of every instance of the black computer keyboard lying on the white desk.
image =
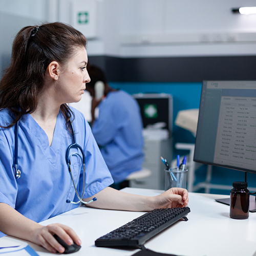
<path id="1" fill-rule="evenodd" d="M 99 247 L 140 246 L 181 218 L 187 221 L 189 207 L 154 209 L 98 238 Z"/>

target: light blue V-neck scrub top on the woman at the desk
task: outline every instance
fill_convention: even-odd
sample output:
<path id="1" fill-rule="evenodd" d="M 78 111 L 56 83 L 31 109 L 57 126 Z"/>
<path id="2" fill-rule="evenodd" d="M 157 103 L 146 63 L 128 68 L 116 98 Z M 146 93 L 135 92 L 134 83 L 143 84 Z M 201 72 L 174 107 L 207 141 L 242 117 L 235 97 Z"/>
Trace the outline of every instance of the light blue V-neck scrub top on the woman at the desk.
<path id="1" fill-rule="evenodd" d="M 113 183 L 90 126 L 83 115 L 71 108 L 76 142 L 86 155 L 86 182 L 83 198 L 95 195 Z M 8 110 L 0 111 L 1 124 L 13 120 Z M 14 126 L 0 130 L 0 202 L 6 203 L 25 217 L 41 222 L 62 214 L 79 204 L 68 204 L 66 200 L 78 201 L 68 165 L 65 160 L 67 147 L 72 143 L 66 129 L 66 120 L 61 113 L 57 116 L 52 145 L 44 130 L 30 114 L 19 121 L 18 168 L 22 174 L 15 179 Z M 78 152 L 72 149 L 71 154 Z M 81 153 L 80 153 L 81 155 Z M 78 193 L 82 195 L 82 170 L 80 158 L 71 158 L 72 173 Z"/>

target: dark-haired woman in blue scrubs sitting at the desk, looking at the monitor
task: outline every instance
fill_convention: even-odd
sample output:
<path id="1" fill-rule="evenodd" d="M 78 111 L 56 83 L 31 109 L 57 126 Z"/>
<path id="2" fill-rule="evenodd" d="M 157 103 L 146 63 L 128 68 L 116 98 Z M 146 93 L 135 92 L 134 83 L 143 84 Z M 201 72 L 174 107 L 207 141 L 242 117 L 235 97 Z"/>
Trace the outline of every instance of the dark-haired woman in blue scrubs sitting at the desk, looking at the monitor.
<path id="1" fill-rule="evenodd" d="M 90 126 L 67 105 L 78 102 L 90 82 L 86 44 L 80 32 L 65 24 L 25 27 L 14 39 L 11 65 L 0 83 L 0 231 L 52 252 L 65 250 L 53 234 L 67 244 L 81 244 L 66 225 L 38 224 L 78 207 L 70 203 L 79 201 L 75 188 L 79 196 L 84 189 L 84 201 L 97 198 L 90 206 L 104 209 L 149 211 L 188 203 L 182 188 L 144 197 L 109 187 L 113 179 Z M 84 182 L 77 148 L 68 156 L 74 182 L 66 163 L 71 123 L 86 159 Z"/>

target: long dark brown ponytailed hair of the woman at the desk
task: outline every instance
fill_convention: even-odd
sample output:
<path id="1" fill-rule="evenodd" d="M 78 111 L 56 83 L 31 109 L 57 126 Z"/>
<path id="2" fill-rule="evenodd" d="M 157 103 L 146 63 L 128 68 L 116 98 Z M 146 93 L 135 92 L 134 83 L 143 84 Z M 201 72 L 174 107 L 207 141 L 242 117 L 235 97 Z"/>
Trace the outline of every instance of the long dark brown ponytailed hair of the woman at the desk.
<path id="1" fill-rule="evenodd" d="M 0 82 L 0 110 L 9 109 L 15 115 L 6 128 L 14 125 L 24 114 L 36 110 L 49 64 L 57 61 L 65 65 L 77 47 L 86 45 L 87 40 L 82 33 L 58 22 L 25 27 L 17 33 L 12 46 L 11 65 Z M 67 104 L 62 104 L 60 110 L 68 127 L 73 113 Z"/>

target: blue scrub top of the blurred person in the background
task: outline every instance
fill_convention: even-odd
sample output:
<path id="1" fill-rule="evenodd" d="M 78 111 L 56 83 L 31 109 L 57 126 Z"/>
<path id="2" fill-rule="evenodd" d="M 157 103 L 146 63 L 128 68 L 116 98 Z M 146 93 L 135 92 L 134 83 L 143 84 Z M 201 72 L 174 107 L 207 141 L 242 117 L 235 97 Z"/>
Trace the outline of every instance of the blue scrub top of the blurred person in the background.
<path id="1" fill-rule="evenodd" d="M 142 120 L 139 105 L 131 95 L 110 92 L 99 104 L 92 132 L 115 183 L 142 168 Z"/>

